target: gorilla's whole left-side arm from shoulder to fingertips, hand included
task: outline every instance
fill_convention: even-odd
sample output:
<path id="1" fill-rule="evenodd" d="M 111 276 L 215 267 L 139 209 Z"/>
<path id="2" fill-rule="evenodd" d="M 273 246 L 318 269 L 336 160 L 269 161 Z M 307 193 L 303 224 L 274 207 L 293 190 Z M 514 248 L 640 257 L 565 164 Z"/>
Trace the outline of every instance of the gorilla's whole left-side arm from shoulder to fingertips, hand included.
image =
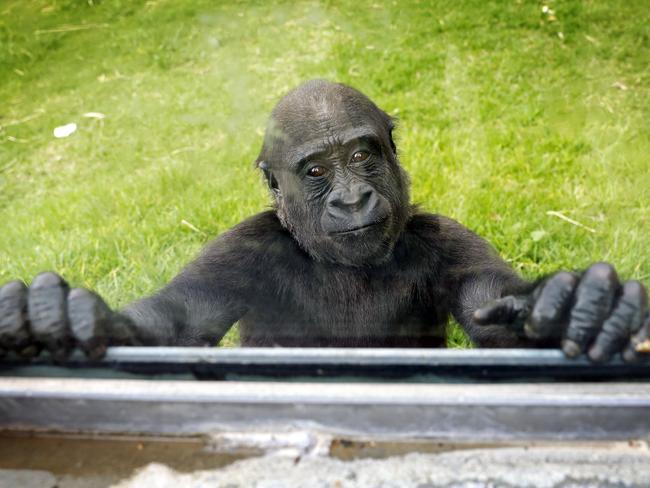
<path id="1" fill-rule="evenodd" d="M 168 285 L 120 312 L 97 294 L 54 273 L 27 288 L 0 288 L 0 349 L 34 356 L 46 348 L 55 358 L 79 347 L 101 357 L 109 345 L 216 345 L 246 313 L 260 244 L 250 220 L 224 233 Z"/>

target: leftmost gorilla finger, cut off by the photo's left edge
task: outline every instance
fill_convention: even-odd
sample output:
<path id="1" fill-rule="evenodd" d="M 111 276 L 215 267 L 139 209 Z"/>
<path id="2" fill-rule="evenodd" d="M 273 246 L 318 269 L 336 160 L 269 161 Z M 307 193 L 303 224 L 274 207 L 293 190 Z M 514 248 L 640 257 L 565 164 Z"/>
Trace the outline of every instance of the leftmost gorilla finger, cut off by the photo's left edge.
<path id="1" fill-rule="evenodd" d="M 27 287 L 11 281 L 0 288 L 0 347 L 21 351 L 29 342 Z"/>

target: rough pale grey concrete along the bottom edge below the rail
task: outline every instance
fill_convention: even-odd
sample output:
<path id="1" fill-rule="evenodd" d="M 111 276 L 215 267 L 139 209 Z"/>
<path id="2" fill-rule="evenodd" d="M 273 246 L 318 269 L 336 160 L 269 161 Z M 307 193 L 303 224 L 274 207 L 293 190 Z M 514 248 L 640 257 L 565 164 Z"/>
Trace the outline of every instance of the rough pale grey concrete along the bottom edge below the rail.
<path id="1" fill-rule="evenodd" d="M 269 454 L 218 469 L 182 473 L 159 463 L 119 482 L 0 470 L 0 488 L 571 488 L 650 487 L 645 443 L 543 446 L 411 453 L 343 461 Z"/>

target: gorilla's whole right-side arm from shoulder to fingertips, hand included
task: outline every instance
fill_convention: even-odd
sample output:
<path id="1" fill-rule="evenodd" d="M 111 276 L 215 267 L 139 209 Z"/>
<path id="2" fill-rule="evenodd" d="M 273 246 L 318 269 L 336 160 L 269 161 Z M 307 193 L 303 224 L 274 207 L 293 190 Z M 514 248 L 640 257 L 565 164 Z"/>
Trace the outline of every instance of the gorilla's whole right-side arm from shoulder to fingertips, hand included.
<path id="1" fill-rule="evenodd" d="M 569 357 L 587 353 L 597 362 L 617 353 L 626 361 L 644 357 L 650 312 L 641 283 L 621 283 L 607 263 L 527 283 L 480 237 L 453 224 L 449 234 L 465 233 L 455 242 L 464 242 L 465 252 L 463 264 L 450 268 L 457 297 L 452 310 L 477 345 L 561 346 Z"/>

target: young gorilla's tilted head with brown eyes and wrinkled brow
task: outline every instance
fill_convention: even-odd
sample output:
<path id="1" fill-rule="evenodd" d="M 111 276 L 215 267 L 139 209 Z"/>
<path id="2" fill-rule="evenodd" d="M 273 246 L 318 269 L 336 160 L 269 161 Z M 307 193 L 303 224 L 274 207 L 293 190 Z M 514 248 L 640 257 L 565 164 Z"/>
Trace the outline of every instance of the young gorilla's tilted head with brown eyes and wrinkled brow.
<path id="1" fill-rule="evenodd" d="M 309 81 L 269 120 L 257 165 L 277 214 L 318 261 L 380 264 L 408 220 L 392 119 L 349 86 Z"/>

